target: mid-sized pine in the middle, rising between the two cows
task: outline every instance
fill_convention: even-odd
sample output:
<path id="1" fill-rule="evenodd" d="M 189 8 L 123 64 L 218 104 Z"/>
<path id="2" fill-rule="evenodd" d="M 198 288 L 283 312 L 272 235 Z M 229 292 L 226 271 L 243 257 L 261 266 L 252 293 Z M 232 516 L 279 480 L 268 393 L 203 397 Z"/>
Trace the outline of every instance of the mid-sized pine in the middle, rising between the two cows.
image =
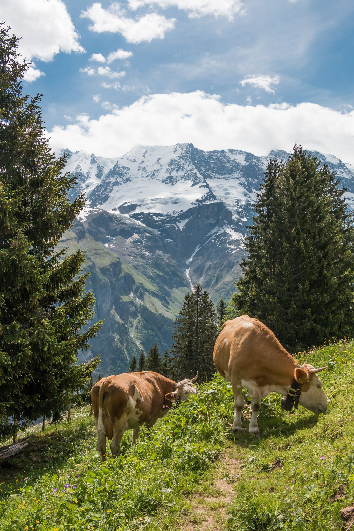
<path id="1" fill-rule="evenodd" d="M 210 378 L 214 372 L 213 348 L 217 337 L 217 316 L 208 292 L 200 282 L 187 293 L 182 310 L 175 321 L 172 337 L 172 372 L 175 380 L 200 373 L 200 378 Z M 190 376 L 189 376 L 190 377 Z"/>

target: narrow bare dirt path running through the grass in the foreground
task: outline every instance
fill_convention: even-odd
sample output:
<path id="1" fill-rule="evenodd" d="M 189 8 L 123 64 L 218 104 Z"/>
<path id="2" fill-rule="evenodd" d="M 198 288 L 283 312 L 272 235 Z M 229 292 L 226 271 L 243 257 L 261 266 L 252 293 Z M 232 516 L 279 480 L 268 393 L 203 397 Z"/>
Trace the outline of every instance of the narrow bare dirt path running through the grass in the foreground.
<path id="1" fill-rule="evenodd" d="M 227 528 L 229 505 L 241 474 L 240 466 L 236 448 L 226 448 L 225 455 L 214 465 L 213 482 L 203 485 L 203 492 L 189 499 L 191 513 L 181 531 L 223 531 Z"/>

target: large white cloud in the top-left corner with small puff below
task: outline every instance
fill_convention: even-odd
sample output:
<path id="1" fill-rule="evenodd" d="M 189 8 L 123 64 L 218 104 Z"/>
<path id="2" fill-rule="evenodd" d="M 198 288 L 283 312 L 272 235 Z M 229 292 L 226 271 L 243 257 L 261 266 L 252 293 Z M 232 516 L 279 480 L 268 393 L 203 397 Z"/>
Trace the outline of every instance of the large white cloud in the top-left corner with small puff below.
<path id="1" fill-rule="evenodd" d="M 19 52 L 27 61 L 52 61 L 60 52 L 84 52 L 74 24 L 62 0 L 0 0 L 1 19 L 20 41 Z M 25 75 L 34 81 L 43 72 L 34 64 Z"/>

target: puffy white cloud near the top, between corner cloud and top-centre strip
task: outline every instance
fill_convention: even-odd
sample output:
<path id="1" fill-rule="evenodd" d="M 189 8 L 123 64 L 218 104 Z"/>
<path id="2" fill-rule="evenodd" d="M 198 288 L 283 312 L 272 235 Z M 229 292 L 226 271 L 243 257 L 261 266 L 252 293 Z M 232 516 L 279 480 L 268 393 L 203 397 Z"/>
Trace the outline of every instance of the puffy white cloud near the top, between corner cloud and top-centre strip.
<path id="1" fill-rule="evenodd" d="M 151 42 L 152 39 L 163 39 L 165 33 L 175 27 L 176 19 L 166 19 L 157 13 L 148 13 L 141 18 L 132 19 L 118 2 L 113 2 L 107 9 L 100 2 L 95 2 L 81 16 L 90 19 L 93 24 L 89 28 L 97 33 L 110 31 L 121 33 L 128 42 Z"/>

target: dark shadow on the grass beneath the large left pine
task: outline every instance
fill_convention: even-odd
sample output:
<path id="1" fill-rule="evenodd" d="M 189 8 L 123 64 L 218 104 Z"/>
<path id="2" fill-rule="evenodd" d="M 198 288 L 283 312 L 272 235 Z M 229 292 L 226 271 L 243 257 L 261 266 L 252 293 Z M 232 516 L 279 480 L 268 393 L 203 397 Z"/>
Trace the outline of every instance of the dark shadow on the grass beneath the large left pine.
<path id="1" fill-rule="evenodd" d="M 26 448 L 17 455 L 0 461 L 0 477 L 6 483 L 12 482 L 17 477 L 19 479 L 17 485 L 21 487 L 24 486 L 26 476 L 30 476 L 33 482 L 43 474 L 54 474 L 58 468 L 67 463 L 78 444 L 87 441 L 91 446 L 90 439 L 94 444 L 95 436 L 93 417 L 92 423 L 84 421 L 73 425 L 58 424 L 54 429 L 51 427 L 48 432 L 32 433 L 29 435 Z M 5 490 L 6 487 L 0 492 L 0 498 L 1 495 L 6 496 Z"/>

